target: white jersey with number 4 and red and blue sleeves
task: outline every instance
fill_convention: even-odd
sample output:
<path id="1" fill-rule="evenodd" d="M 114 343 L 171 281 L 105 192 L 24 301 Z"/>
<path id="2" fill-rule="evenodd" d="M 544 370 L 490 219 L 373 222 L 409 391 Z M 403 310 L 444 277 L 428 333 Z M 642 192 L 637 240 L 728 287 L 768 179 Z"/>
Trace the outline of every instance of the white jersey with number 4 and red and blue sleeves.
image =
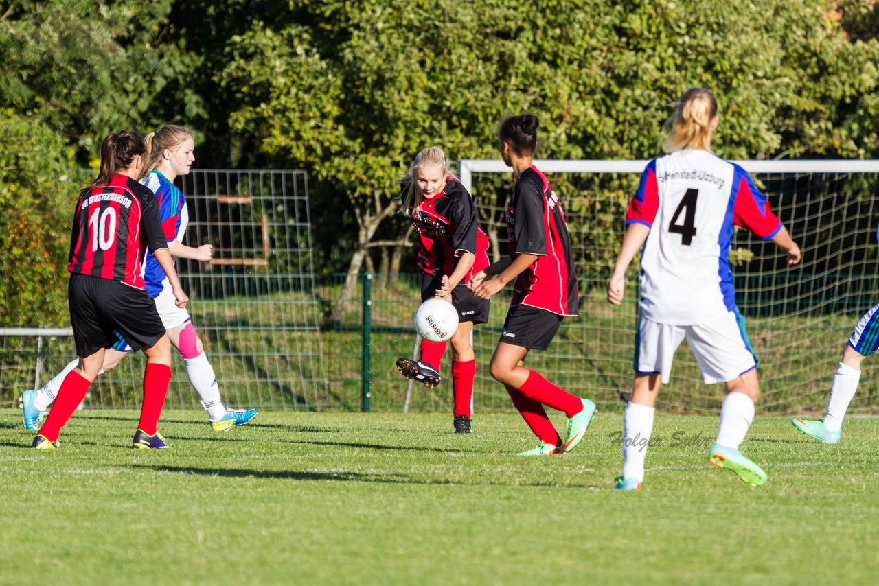
<path id="1" fill-rule="evenodd" d="M 763 240 L 781 230 L 748 173 L 704 150 L 647 165 L 626 225 L 650 227 L 641 257 L 641 309 L 657 323 L 696 325 L 737 311 L 730 271 L 733 226 Z"/>

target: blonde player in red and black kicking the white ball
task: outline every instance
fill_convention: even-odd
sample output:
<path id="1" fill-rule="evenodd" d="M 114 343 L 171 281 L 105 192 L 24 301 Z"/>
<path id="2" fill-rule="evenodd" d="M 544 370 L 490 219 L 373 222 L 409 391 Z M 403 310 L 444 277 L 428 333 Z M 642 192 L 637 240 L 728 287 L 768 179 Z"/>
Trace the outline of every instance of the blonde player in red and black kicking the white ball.
<path id="1" fill-rule="evenodd" d="M 488 266 L 489 239 L 476 223 L 473 198 L 451 175 L 446 155 L 439 147 L 418 153 L 403 184 L 403 213 L 418 230 L 418 271 L 421 300 L 439 297 L 458 311 L 458 329 L 452 336 L 452 380 L 454 387 L 454 430 L 470 433 L 473 380 L 476 357 L 470 343 L 474 323 L 489 320 L 489 302 L 475 297 L 467 288 L 469 279 Z M 418 361 L 399 358 L 403 376 L 427 387 L 439 384 L 439 363 L 445 342 L 421 342 Z"/>

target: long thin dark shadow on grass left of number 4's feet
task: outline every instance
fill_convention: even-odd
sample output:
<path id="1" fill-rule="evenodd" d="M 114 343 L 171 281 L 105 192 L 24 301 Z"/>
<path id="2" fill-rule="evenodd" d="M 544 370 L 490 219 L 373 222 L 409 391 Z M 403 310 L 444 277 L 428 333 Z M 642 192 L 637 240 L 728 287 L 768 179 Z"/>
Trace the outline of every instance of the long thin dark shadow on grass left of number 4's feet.
<path id="1" fill-rule="evenodd" d="M 294 481 L 342 481 L 379 482 L 383 484 L 460 485 L 460 486 L 510 486 L 547 488 L 607 488 L 607 482 L 599 484 L 562 485 L 554 482 L 497 482 L 497 481 L 456 481 L 451 479 L 420 480 L 403 474 L 361 474 L 360 472 L 308 472 L 297 470 L 249 470 L 240 468 L 195 468 L 178 466 L 143 466 L 134 468 L 155 470 L 159 473 L 192 474 L 195 476 L 216 476 L 223 478 L 265 478 L 268 480 Z"/>

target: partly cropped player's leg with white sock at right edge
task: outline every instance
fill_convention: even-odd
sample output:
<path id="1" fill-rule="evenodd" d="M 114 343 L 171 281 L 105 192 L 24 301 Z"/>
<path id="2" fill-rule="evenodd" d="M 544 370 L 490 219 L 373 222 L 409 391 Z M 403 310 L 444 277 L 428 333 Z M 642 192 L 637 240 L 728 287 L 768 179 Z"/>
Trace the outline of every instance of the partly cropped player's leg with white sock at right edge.
<path id="1" fill-rule="evenodd" d="M 876 240 L 879 240 L 879 231 L 876 232 Z M 848 336 L 842 359 L 833 374 L 826 415 L 817 420 L 794 417 L 791 419 L 794 427 L 825 444 L 839 443 L 842 420 L 861 382 L 861 362 L 875 354 L 876 350 L 879 350 L 879 305 L 871 307 L 854 326 L 852 335 Z"/>

